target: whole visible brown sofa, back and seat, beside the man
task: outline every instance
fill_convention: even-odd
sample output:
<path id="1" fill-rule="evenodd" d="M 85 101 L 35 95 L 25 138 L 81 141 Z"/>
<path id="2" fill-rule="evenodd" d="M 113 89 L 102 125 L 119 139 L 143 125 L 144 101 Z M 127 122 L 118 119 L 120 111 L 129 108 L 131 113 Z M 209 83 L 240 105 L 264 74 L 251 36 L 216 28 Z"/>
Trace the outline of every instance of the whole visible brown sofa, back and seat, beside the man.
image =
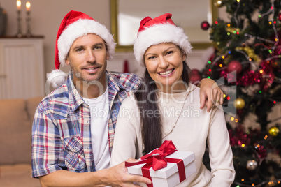
<path id="1" fill-rule="evenodd" d="M 43 97 L 0 100 L 0 186 L 39 187 L 31 177 L 31 128 Z"/>

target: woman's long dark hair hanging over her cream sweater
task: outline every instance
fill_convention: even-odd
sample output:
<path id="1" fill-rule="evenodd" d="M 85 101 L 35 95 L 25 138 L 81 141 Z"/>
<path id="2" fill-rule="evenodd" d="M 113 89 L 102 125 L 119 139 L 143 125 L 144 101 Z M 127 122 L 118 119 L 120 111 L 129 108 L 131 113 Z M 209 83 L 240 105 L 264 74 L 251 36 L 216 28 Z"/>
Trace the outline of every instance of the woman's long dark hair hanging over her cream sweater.
<path id="1" fill-rule="evenodd" d="M 185 61 L 183 63 L 182 80 L 189 83 L 190 69 Z M 158 106 L 157 86 L 145 68 L 143 84 L 136 91 L 138 109 L 141 112 L 141 135 L 143 138 L 143 155 L 159 147 L 162 143 L 161 113 Z"/>

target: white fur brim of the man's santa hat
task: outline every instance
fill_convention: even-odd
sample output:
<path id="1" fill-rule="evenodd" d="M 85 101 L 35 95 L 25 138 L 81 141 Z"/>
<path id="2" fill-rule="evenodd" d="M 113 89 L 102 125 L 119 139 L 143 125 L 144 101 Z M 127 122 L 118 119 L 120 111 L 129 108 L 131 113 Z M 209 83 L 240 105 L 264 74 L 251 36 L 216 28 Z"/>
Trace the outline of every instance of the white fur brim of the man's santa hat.
<path id="1" fill-rule="evenodd" d="M 59 50 L 59 62 L 62 66 L 65 65 L 66 56 L 71 48 L 73 42 L 87 33 L 94 33 L 106 42 L 108 47 L 109 57 L 112 58 L 115 52 L 115 45 L 113 36 L 109 33 L 108 29 L 103 24 L 95 20 L 80 19 L 70 24 L 57 40 L 57 48 Z"/>

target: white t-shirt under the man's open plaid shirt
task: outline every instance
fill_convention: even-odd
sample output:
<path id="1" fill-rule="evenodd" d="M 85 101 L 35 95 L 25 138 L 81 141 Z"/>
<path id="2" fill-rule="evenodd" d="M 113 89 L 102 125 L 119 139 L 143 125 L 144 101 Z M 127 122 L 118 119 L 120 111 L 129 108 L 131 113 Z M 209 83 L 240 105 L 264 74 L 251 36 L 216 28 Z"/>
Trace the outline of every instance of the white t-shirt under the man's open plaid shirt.
<path id="1" fill-rule="evenodd" d="M 98 98 L 83 98 L 89 105 L 91 113 L 91 139 L 94 154 L 94 165 L 97 170 L 109 167 L 110 154 L 108 147 L 108 89 Z"/>

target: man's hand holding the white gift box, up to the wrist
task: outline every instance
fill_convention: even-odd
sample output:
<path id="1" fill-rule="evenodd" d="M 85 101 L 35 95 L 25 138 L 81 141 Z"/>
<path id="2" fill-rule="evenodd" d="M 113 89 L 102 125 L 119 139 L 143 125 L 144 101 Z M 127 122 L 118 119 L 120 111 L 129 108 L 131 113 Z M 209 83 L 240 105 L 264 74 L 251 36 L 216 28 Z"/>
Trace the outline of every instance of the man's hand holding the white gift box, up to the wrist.
<path id="1" fill-rule="evenodd" d="M 134 158 L 129 158 L 127 162 L 136 162 L 138 160 Z M 103 184 L 108 184 L 108 186 L 139 186 L 139 183 L 151 184 L 150 179 L 142 176 L 131 175 L 125 167 L 125 162 L 115 165 L 106 170 L 106 181 Z"/>

